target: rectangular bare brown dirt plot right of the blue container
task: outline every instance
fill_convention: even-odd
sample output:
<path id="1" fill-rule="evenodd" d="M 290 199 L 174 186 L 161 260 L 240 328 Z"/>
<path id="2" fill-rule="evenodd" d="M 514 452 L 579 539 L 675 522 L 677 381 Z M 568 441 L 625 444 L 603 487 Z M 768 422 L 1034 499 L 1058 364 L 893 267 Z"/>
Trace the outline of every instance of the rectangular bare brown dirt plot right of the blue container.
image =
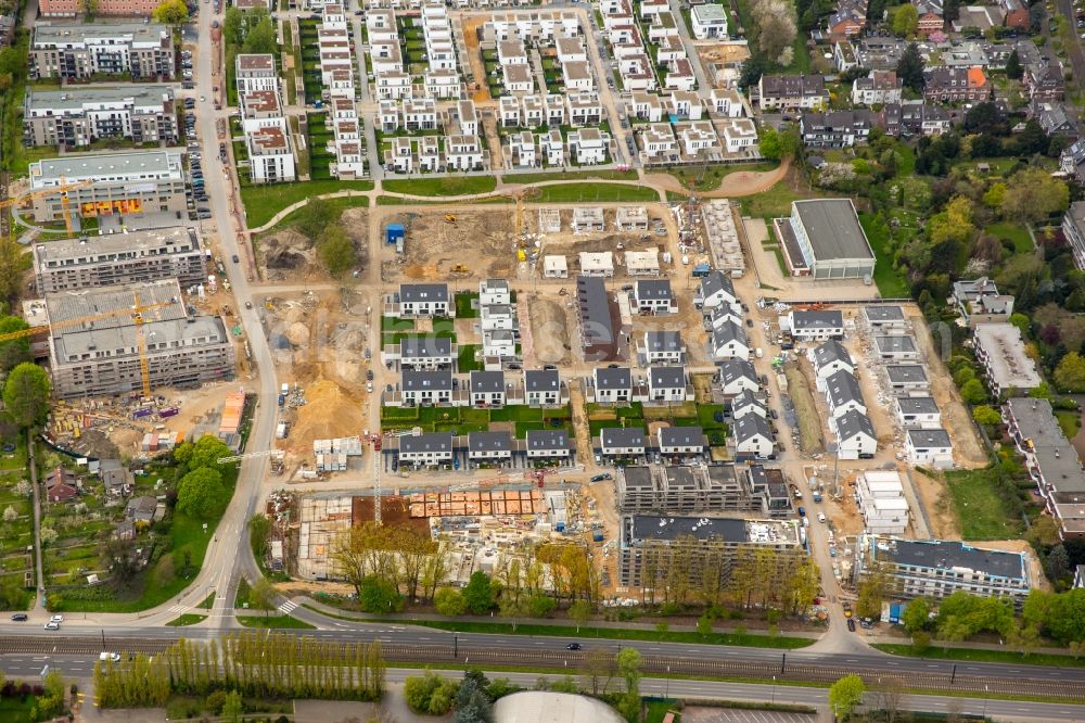
<path id="1" fill-rule="evenodd" d="M 459 279 L 512 276 L 516 261 L 512 214 L 506 210 L 463 211 L 452 214 L 456 221 L 451 223 L 445 219 L 446 213 L 406 212 L 388 218 L 407 227 L 407 243 L 401 263 L 383 264 L 382 281 L 445 281 L 457 264 L 468 268 L 456 277 Z"/>

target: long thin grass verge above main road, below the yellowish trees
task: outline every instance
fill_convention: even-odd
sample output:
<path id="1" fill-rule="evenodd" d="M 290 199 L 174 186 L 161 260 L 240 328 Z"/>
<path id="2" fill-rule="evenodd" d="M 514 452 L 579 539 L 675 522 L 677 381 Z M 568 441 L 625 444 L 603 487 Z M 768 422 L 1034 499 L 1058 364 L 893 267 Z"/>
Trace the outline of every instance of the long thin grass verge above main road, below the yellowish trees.
<path id="1" fill-rule="evenodd" d="M 475 622 L 473 620 L 446 622 L 443 620 L 399 620 L 403 624 L 436 627 L 457 633 L 482 633 L 494 635 L 538 635 L 547 637 L 569 637 L 583 639 L 587 637 L 607 638 L 612 640 L 648 640 L 661 643 L 694 643 L 702 645 L 738 645 L 751 648 L 777 648 L 795 650 L 814 643 L 813 638 L 786 637 L 783 635 L 755 635 L 750 633 L 693 633 L 688 631 L 667 631 L 661 633 L 653 630 L 629 627 L 595 627 L 584 625 L 576 630 L 574 625 L 539 625 L 526 623 L 516 625 L 509 623 Z"/>

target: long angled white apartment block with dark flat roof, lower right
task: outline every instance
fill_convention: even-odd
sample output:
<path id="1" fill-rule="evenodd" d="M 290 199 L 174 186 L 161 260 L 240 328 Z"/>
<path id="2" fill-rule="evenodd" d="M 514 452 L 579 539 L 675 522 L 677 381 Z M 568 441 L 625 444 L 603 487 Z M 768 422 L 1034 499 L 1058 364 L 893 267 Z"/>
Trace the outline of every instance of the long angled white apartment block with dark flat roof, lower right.
<path id="1" fill-rule="evenodd" d="M 985 549 L 954 540 L 902 540 L 866 534 L 855 556 L 856 581 L 878 572 L 895 597 L 935 600 L 957 591 L 1006 596 L 1020 605 L 1032 588 L 1023 553 Z"/>

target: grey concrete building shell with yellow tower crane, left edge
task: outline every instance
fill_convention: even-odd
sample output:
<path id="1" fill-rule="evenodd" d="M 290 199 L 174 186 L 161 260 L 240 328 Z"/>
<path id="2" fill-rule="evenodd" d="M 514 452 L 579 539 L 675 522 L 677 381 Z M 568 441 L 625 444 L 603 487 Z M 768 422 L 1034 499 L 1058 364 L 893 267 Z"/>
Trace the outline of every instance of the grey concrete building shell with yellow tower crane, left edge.
<path id="1" fill-rule="evenodd" d="M 228 379 L 234 350 L 217 316 L 186 309 L 177 279 L 48 294 L 49 366 L 61 398 L 124 394 Z M 40 316 L 40 314 L 39 314 Z"/>

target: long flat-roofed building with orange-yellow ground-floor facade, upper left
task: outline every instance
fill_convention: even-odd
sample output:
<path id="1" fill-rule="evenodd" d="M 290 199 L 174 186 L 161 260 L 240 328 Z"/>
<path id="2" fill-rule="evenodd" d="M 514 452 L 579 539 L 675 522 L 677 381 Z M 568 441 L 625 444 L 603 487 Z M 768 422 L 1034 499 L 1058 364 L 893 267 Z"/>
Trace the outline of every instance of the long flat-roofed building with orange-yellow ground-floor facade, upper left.
<path id="1" fill-rule="evenodd" d="M 78 185 L 67 191 L 68 207 L 84 218 L 188 211 L 181 154 L 171 151 L 44 158 L 30 164 L 29 176 L 31 191 Z M 47 192 L 36 196 L 35 220 L 62 220 L 61 195 Z"/>

